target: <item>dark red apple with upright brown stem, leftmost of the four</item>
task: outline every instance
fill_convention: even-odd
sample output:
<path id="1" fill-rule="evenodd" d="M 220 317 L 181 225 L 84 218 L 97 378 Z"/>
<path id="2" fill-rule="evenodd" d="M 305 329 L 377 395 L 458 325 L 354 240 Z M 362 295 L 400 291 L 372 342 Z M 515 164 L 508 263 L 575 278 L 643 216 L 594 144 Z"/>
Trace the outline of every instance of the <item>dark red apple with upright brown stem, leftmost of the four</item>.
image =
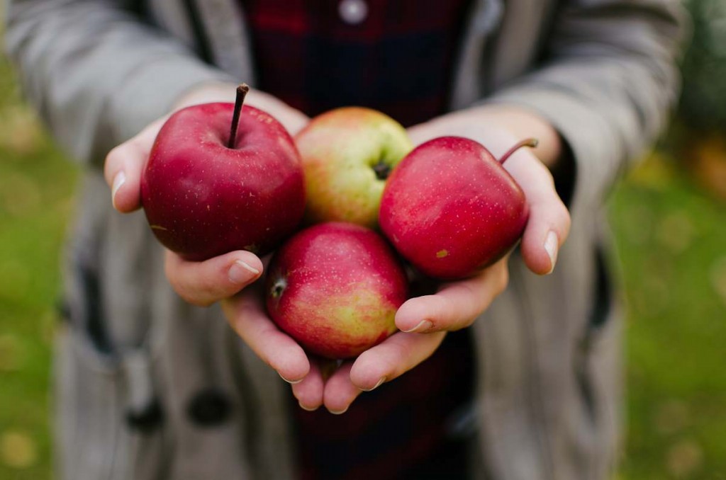
<path id="1" fill-rule="evenodd" d="M 305 184 L 293 138 L 242 102 L 187 107 L 166 120 L 142 173 L 156 238 L 187 260 L 271 252 L 302 220 Z M 230 128 L 231 125 L 231 128 Z"/>

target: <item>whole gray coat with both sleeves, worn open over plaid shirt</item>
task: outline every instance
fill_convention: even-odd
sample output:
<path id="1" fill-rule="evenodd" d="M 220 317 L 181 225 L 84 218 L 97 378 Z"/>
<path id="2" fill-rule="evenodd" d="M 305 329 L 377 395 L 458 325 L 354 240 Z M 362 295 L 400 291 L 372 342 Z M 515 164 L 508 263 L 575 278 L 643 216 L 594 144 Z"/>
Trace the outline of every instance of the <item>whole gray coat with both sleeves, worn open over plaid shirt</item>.
<path id="1" fill-rule="evenodd" d="M 163 274 L 142 213 L 119 215 L 105 154 L 208 80 L 255 72 L 237 0 L 10 1 L 7 48 L 60 144 L 89 165 L 68 249 L 69 321 L 58 336 L 62 478 L 289 479 L 284 384 Z M 143 22 L 140 20 L 143 18 Z M 677 90 L 677 1 L 473 1 L 452 109 L 534 109 L 576 164 L 573 226 L 550 276 L 510 262 L 510 285 L 473 326 L 478 478 L 603 479 L 621 427 L 616 308 L 600 248 L 603 196 L 664 125 Z M 209 408 L 210 405 L 216 408 Z M 210 413 L 212 412 L 212 413 Z"/>

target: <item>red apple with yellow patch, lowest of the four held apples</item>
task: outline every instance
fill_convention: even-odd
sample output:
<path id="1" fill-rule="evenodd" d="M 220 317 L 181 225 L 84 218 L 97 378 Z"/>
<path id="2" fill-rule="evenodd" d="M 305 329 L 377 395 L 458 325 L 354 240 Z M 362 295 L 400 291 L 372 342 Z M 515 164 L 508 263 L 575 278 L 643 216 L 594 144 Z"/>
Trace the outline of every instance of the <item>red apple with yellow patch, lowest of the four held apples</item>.
<path id="1" fill-rule="evenodd" d="M 340 360 L 396 331 L 407 279 L 378 233 L 352 223 L 319 223 L 275 253 L 265 292 L 267 312 L 282 331 L 309 352 Z"/>

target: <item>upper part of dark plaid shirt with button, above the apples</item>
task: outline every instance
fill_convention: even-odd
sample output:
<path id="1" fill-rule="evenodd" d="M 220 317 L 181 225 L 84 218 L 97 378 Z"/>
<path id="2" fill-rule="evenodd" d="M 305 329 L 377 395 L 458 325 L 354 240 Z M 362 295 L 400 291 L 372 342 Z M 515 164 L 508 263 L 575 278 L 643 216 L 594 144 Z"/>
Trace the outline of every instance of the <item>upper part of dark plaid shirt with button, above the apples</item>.
<path id="1" fill-rule="evenodd" d="M 307 115 L 358 105 L 409 126 L 445 112 L 468 1 L 240 1 L 258 86 Z M 353 24 L 351 3 L 367 6 Z"/>

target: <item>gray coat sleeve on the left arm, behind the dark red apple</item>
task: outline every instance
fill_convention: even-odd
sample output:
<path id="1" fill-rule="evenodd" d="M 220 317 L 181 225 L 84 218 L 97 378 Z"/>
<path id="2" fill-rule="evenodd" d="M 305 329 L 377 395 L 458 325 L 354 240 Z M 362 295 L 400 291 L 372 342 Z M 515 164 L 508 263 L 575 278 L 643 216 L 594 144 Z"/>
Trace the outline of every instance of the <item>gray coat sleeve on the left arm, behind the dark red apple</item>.
<path id="1" fill-rule="evenodd" d="M 25 95 L 73 157 L 105 154 L 195 84 L 231 80 L 123 0 L 11 0 L 6 48 Z"/>

